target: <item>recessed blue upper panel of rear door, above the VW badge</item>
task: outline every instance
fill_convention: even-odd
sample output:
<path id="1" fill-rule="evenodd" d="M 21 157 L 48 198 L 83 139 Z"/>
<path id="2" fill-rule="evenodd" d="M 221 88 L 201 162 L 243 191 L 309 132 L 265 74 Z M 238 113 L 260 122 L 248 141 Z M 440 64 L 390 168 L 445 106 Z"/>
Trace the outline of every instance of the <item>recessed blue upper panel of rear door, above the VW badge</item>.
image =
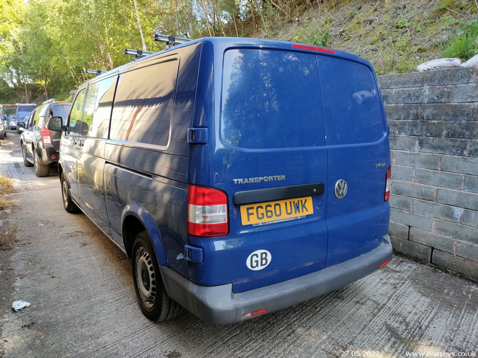
<path id="1" fill-rule="evenodd" d="M 375 78 L 364 64 L 319 56 L 326 145 L 376 142 L 385 135 Z"/>

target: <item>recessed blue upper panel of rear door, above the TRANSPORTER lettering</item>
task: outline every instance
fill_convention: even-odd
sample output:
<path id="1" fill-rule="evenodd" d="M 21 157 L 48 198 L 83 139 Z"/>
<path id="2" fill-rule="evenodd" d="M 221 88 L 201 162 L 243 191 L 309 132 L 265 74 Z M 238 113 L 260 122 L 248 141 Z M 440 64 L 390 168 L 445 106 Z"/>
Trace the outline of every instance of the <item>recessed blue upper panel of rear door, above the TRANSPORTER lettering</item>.
<path id="1" fill-rule="evenodd" d="M 324 144 L 315 54 L 228 50 L 222 81 L 225 143 L 250 149 Z"/>

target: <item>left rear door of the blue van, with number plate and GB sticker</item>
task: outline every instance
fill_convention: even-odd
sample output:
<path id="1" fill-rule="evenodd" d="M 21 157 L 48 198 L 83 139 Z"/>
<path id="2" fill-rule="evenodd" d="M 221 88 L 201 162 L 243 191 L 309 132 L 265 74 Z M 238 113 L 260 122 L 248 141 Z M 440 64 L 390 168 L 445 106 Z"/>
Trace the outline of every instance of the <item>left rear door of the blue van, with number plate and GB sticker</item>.
<path id="1" fill-rule="evenodd" d="M 200 171 L 211 177 L 205 185 L 228 194 L 229 234 L 203 267 L 234 292 L 323 269 L 327 150 L 315 53 L 229 49 L 218 97 L 214 160 L 202 154 Z M 211 239 L 190 240 L 211 247 Z"/>

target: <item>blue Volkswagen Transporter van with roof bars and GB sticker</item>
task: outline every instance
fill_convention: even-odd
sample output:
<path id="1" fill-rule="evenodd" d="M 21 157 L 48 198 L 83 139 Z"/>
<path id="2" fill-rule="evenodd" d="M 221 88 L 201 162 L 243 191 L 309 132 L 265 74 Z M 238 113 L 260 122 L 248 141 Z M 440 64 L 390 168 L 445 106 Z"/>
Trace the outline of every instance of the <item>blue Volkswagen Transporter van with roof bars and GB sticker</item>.
<path id="1" fill-rule="evenodd" d="M 244 321 L 391 260 L 389 129 L 357 56 L 198 39 L 82 84 L 48 128 L 65 209 L 131 258 L 152 320 Z"/>

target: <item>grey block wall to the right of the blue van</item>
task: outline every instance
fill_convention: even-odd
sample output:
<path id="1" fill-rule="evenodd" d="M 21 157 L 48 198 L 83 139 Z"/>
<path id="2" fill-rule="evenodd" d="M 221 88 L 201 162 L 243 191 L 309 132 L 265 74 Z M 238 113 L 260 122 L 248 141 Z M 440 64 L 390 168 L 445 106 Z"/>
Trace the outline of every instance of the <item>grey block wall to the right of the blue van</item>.
<path id="1" fill-rule="evenodd" d="M 394 250 L 478 278 L 478 67 L 379 76 Z"/>

